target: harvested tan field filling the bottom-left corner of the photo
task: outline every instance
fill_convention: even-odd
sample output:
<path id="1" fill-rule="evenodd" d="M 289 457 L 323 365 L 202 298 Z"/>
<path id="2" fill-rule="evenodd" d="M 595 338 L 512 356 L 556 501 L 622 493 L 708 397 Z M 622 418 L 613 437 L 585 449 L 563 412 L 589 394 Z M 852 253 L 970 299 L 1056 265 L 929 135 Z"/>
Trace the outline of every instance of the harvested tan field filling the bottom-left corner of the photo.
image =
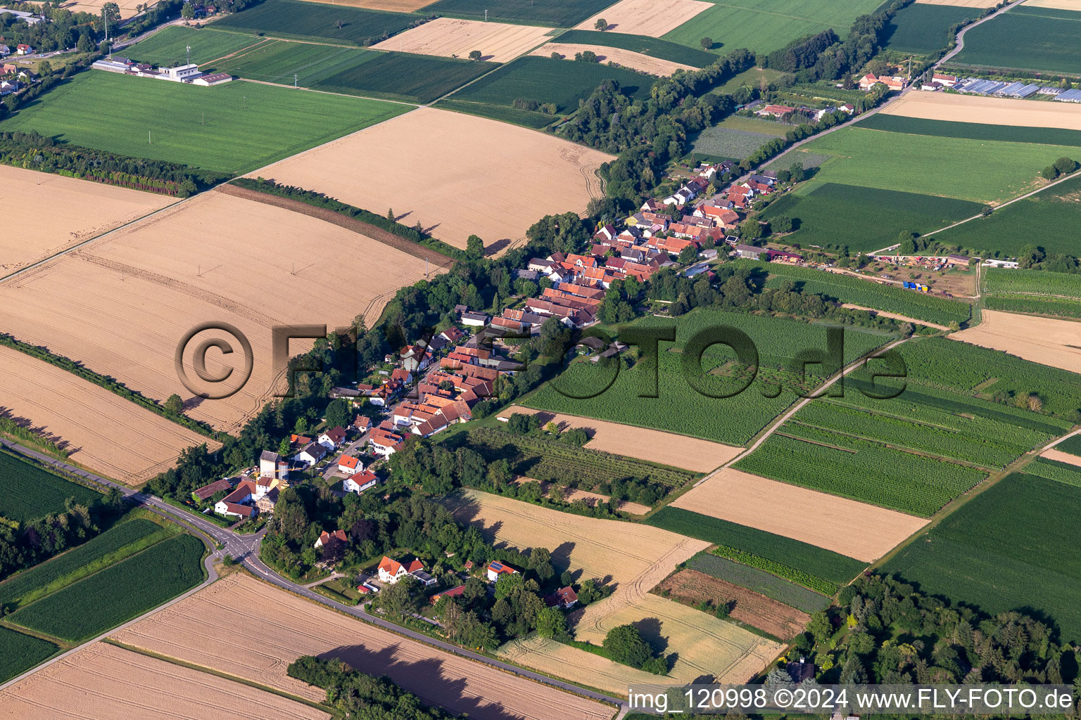
<path id="1" fill-rule="evenodd" d="M 265 690 L 95 642 L 0 691 L 0 717 L 323 720 L 331 716 Z"/>

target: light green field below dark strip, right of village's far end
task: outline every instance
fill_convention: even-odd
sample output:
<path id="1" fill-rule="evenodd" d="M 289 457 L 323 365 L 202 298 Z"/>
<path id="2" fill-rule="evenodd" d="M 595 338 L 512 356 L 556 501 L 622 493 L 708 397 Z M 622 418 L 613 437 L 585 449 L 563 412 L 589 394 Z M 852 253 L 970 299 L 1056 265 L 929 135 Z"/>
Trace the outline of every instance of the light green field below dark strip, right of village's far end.
<path id="1" fill-rule="evenodd" d="M 988 142 L 908 135 L 858 125 L 808 144 L 835 155 L 815 176 L 822 182 L 998 203 L 1039 187 L 1040 171 L 1077 148 L 1029 142 Z"/>

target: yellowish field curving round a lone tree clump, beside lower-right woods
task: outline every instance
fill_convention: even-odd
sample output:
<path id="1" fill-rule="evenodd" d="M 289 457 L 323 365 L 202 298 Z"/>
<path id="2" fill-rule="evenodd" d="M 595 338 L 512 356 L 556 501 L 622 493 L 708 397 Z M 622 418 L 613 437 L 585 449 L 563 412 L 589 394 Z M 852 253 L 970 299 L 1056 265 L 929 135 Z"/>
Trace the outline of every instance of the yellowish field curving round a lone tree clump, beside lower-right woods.
<path id="1" fill-rule="evenodd" d="M 587 606 L 574 628 L 574 638 L 600 644 L 608 631 L 619 625 L 638 627 L 654 650 L 678 653 L 668 677 L 680 682 L 746 682 L 784 647 L 734 623 L 652 594 L 633 603 L 620 602 L 612 595 Z M 704 677 L 709 679 L 699 680 Z"/>

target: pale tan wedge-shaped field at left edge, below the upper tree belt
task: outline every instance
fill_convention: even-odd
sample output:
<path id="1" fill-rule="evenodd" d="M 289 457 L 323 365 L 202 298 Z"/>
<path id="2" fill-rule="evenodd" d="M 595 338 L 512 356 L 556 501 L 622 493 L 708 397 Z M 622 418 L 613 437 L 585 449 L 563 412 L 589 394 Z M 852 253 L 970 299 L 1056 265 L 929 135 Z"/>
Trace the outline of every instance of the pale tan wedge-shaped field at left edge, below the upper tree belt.
<path id="1" fill-rule="evenodd" d="M 175 202 L 176 198 L 0 165 L 0 204 L 9 229 L 0 235 L 0 275 Z"/>

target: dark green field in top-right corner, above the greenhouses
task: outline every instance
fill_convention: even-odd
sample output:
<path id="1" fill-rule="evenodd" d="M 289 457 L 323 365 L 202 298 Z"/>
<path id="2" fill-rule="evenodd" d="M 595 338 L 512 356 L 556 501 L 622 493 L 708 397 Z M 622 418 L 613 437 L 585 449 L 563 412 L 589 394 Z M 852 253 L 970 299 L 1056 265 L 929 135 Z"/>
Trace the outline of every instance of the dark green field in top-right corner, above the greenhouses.
<path id="1" fill-rule="evenodd" d="M 1081 74 L 1081 12 L 1015 8 L 973 28 L 955 64 Z"/>

